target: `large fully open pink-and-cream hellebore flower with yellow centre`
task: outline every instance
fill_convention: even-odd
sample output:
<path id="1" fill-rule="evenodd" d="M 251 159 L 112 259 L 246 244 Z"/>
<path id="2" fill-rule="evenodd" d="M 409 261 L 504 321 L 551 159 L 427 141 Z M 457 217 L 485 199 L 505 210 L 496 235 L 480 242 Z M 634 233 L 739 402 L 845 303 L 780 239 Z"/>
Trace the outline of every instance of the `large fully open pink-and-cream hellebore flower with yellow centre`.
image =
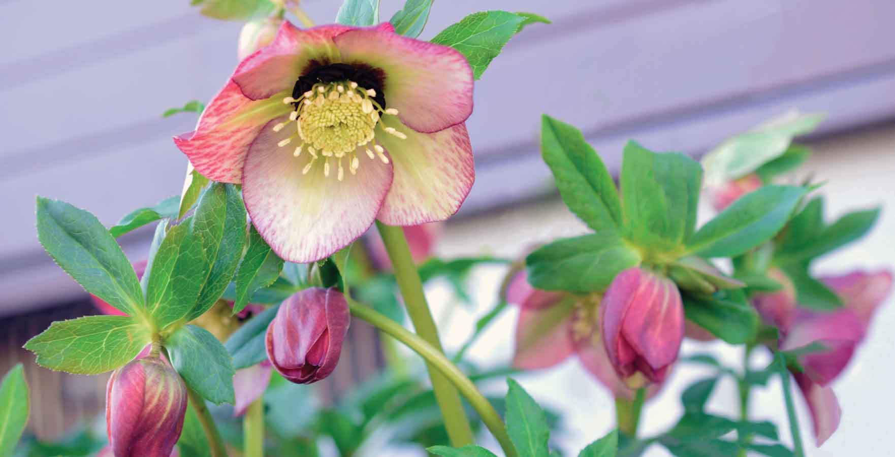
<path id="1" fill-rule="evenodd" d="M 474 179 L 472 112 L 473 72 L 453 48 L 388 22 L 286 21 L 175 144 L 209 179 L 241 183 L 264 240 L 306 263 L 377 218 L 414 225 L 456 213 Z"/>

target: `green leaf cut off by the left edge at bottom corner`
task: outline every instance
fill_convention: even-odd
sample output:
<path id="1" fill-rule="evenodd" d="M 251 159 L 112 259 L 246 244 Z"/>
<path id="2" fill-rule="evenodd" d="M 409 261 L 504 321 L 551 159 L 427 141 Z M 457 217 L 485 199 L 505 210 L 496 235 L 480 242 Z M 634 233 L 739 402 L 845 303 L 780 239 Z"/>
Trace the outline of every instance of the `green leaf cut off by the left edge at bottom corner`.
<path id="1" fill-rule="evenodd" d="M 29 394 L 21 363 L 6 373 L 0 384 L 0 455 L 13 455 L 28 423 Z"/>

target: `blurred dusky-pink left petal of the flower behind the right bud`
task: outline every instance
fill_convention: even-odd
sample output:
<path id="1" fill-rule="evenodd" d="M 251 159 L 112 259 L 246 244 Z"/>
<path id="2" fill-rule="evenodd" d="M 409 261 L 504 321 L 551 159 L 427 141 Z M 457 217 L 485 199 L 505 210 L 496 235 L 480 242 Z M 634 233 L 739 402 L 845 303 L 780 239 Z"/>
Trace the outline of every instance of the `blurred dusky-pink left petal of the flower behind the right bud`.
<path id="1" fill-rule="evenodd" d="M 516 324 L 516 355 L 513 366 L 549 368 L 566 360 L 574 351 L 570 325 L 574 302 L 569 299 L 550 308 L 523 308 Z"/>

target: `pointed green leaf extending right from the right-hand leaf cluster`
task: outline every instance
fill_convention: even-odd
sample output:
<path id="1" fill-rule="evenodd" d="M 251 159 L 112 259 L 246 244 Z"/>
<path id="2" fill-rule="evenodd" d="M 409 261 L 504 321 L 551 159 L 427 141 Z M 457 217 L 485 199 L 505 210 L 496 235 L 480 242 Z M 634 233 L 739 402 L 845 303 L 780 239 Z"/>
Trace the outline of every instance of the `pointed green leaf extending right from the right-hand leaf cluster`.
<path id="1" fill-rule="evenodd" d="M 688 248 L 705 257 L 751 250 L 780 232 L 804 195 L 805 189 L 792 186 L 764 186 L 747 193 L 694 233 Z"/>

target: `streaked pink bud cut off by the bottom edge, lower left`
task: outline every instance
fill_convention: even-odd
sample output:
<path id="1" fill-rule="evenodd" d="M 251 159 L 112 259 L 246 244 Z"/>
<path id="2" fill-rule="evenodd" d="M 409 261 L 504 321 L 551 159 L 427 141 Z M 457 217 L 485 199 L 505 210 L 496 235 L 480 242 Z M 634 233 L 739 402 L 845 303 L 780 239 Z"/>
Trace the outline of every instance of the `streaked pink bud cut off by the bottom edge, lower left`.
<path id="1" fill-rule="evenodd" d="M 106 427 L 115 457 L 169 457 L 183 429 L 183 379 L 156 357 L 118 368 L 106 387 Z"/>

